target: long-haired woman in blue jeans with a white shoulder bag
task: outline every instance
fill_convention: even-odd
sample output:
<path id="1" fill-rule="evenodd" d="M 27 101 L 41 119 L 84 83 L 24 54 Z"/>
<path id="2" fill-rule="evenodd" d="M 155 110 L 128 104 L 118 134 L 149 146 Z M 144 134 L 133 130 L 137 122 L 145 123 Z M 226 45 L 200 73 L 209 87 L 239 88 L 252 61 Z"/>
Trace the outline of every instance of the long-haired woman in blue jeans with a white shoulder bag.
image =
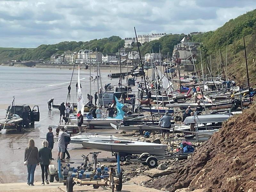
<path id="1" fill-rule="evenodd" d="M 36 165 L 39 165 L 39 153 L 37 147 L 35 147 L 35 141 L 33 139 L 28 140 L 28 147 L 25 149 L 24 162 L 28 161 L 28 186 L 34 186 L 34 173 Z"/>

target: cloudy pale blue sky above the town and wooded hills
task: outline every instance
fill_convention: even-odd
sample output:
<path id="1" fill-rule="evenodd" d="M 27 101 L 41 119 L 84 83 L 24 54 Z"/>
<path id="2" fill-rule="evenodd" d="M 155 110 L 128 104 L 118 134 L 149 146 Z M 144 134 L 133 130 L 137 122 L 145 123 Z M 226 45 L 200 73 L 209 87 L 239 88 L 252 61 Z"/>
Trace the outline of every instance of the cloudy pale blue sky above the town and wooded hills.
<path id="1" fill-rule="evenodd" d="M 124 39 L 133 27 L 137 35 L 206 32 L 253 9 L 256 0 L 0 0 L 0 47 Z"/>

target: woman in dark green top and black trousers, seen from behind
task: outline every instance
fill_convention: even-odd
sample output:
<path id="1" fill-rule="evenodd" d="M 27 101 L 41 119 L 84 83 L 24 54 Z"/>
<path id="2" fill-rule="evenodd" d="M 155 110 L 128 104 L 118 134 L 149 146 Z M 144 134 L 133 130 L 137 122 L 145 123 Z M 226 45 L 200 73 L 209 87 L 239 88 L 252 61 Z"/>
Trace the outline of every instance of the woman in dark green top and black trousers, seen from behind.
<path id="1" fill-rule="evenodd" d="M 40 158 L 40 166 L 42 170 L 42 184 L 44 185 L 44 174 L 45 174 L 45 183 L 49 184 L 48 181 L 48 167 L 50 164 L 50 159 L 52 159 L 52 150 L 49 147 L 49 143 L 47 140 L 44 140 L 43 148 L 39 149 L 39 158 Z"/>

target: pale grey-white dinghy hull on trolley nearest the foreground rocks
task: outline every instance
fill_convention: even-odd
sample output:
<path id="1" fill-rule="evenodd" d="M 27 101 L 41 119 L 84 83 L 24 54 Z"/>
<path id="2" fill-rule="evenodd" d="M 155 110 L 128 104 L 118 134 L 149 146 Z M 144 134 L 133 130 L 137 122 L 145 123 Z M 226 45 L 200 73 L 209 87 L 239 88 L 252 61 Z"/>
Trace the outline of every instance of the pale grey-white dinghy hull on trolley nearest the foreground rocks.
<path id="1" fill-rule="evenodd" d="M 85 148 L 92 148 L 102 151 L 119 152 L 121 154 L 142 154 L 149 153 L 150 155 L 165 155 L 167 145 L 157 143 L 147 143 L 131 140 L 104 140 L 104 139 L 89 139 L 88 142 L 83 142 Z"/>

